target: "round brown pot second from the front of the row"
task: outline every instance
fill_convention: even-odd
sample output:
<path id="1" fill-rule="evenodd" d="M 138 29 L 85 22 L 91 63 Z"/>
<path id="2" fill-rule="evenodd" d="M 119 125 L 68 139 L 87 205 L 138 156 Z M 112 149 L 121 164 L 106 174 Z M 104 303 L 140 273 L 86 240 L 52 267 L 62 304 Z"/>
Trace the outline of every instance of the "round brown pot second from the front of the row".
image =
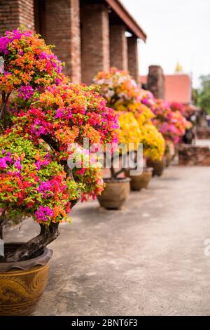
<path id="1" fill-rule="evenodd" d="M 105 178 L 106 187 L 100 196 L 99 204 L 105 209 L 118 210 L 130 193 L 130 178 Z"/>

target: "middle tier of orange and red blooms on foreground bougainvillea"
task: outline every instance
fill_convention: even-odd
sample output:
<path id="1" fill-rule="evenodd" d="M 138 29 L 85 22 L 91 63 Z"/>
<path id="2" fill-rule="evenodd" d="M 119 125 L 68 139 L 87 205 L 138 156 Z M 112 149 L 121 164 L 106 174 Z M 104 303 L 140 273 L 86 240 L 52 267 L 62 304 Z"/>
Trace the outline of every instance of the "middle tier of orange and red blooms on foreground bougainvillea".
<path id="1" fill-rule="evenodd" d="M 90 144 L 118 141 L 114 110 L 106 107 L 104 98 L 90 87 L 52 85 L 36 97 L 34 104 L 22 110 L 18 109 L 19 99 L 13 100 L 13 122 L 18 133 L 28 134 L 36 143 L 50 136 L 57 143 L 61 159 L 68 157 L 69 144 L 83 145 L 83 138 L 88 138 Z"/>

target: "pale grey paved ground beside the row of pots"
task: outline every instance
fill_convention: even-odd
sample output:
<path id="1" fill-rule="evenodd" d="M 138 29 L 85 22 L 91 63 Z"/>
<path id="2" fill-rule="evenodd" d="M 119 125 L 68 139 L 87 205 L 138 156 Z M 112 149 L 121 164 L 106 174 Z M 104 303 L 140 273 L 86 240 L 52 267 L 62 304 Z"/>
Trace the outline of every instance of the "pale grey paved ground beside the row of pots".
<path id="1" fill-rule="evenodd" d="M 78 205 L 51 244 L 36 315 L 210 315 L 209 201 L 209 168 L 172 166 L 122 211 Z"/>

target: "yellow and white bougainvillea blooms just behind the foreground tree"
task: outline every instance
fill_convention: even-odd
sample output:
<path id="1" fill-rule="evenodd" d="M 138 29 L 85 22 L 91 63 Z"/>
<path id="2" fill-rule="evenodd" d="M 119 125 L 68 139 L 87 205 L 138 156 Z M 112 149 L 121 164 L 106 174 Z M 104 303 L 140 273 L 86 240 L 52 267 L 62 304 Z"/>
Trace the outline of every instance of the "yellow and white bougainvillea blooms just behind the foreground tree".
<path id="1" fill-rule="evenodd" d="M 120 143 L 142 143 L 144 157 L 160 160 L 165 151 L 165 140 L 153 125 L 153 112 L 141 100 L 145 91 L 126 71 L 112 67 L 109 72 L 99 72 L 94 78 L 100 93 L 119 116 Z"/>

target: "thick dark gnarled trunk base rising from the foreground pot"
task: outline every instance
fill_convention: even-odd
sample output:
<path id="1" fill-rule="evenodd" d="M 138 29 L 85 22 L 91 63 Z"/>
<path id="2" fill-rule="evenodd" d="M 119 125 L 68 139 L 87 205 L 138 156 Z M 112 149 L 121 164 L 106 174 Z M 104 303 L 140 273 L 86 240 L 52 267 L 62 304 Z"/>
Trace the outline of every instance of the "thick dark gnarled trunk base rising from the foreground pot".
<path id="1" fill-rule="evenodd" d="M 50 225 L 41 224 L 40 233 L 29 242 L 20 246 L 15 253 L 8 253 L 5 257 L 6 263 L 28 260 L 29 258 L 38 256 L 38 253 L 41 253 L 45 246 L 53 242 L 59 236 L 58 226 L 59 223 L 50 223 Z"/>

